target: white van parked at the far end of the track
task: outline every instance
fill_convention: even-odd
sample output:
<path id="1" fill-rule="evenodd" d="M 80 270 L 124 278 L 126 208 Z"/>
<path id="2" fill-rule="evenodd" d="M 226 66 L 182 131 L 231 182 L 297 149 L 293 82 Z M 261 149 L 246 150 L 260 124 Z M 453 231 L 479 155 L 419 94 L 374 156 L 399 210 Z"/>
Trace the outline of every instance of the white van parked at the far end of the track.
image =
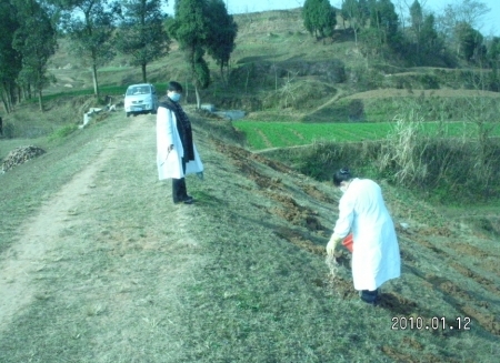
<path id="1" fill-rule="evenodd" d="M 139 113 L 157 113 L 158 94 L 154 85 L 150 83 L 129 85 L 123 104 L 127 117 Z"/>

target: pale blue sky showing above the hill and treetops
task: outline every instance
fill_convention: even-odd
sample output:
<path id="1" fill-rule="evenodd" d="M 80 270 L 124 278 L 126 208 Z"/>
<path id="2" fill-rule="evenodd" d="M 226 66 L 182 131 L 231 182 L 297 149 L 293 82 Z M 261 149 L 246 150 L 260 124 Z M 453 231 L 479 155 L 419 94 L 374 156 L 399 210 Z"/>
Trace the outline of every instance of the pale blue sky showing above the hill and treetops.
<path id="1" fill-rule="evenodd" d="M 224 0 L 226 7 L 229 13 L 246 13 L 246 12 L 257 12 L 257 11 L 268 11 L 268 10 L 284 10 L 301 8 L 304 0 Z M 440 13 L 442 9 L 449 3 L 456 3 L 457 0 L 419 0 L 423 9 L 430 9 L 437 13 Z M 479 31 L 483 36 L 500 36 L 500 0 L 478 0 L 491 11 L 484 16 L 483 26 Z M 169 0 L 169 6 L 167 12 L 173 14 L 173 2 L 174 0 Z M 412 3 L 412 0 L 393 0 L 394 6 L 397 3 Z M 330 3 L 340 8 L 342 4 L 341 0 L 330 0 Z"/>

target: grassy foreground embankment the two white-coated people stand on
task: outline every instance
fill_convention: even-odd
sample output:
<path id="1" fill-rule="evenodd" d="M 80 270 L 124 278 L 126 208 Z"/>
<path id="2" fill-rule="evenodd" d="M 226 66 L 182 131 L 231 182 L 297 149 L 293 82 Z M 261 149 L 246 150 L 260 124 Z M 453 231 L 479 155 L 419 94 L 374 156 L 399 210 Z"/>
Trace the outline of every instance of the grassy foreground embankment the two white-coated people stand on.
<path id="1" fill-rule="evenodd" d="M 0 177 L 1 362 L 499 356 L 494 229 L 382 182 L 402 278 L 364 306 L 348 253 L 334 278 L 324 263 L 332 186 L 239 148 L 230 124 L 191 118 L 206 164 L 204 181 L 188 179 L 193 205 L 173 205 L 157 181 L 151 115 L 116 114 Z"/>

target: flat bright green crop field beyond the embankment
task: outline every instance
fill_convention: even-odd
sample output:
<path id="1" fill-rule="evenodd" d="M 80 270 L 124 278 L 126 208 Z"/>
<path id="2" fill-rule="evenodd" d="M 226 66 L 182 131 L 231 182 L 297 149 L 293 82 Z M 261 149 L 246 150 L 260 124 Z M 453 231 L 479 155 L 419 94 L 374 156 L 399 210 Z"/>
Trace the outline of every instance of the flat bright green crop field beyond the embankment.
<path id="1" fill-rule="evenodd" d="M 394 122 L 377 123 L 297 123 L 237 121 L 234 128 L 243 132 L 251 150 L 310 144 L 314 141 L 356 142 L 381 140 L 394 130 Z M 457 138 L 477 135 L 477 125 L 466 122 L 421 123 L 423 131 L 431 134 Z M 500 128 L 489 124 L 490 135 L 500 135 Z"/>

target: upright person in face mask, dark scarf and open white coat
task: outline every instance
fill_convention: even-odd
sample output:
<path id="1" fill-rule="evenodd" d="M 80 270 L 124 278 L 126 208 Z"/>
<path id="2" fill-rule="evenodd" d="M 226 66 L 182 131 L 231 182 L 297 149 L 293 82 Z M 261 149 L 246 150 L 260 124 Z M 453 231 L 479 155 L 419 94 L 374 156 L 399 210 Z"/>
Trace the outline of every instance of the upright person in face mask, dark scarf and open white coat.
<path id="1" fill-rule="evenodd" d="M 179 101 L 182 85 L 169 82 L 167 97 L 157 112 L 157 165 L 160 180 L 172 179 L 173 203 L 191 204 L 186 174 L 203 172 L 197 148 L 192 142 L 191 122 Z"/>

